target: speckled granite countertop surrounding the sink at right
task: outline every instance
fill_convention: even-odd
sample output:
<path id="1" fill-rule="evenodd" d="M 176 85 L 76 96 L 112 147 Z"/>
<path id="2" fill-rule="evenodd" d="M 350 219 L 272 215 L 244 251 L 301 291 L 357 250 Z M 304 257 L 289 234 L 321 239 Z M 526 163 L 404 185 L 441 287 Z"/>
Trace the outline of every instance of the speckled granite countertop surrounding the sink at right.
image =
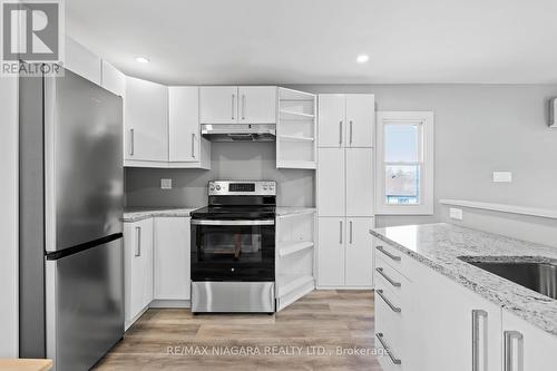
<path id="1" fill-rule="evenodd" d="M 477 261 L 514 261 L 543 257 L 557 263 L 557 247 L 511 237 L 436 223 L 375 228 L 370 233 L 434 271 L 478 293 L 490 302 L 557 336 L 557 300 L 491 274 L 458 256 Z"/>

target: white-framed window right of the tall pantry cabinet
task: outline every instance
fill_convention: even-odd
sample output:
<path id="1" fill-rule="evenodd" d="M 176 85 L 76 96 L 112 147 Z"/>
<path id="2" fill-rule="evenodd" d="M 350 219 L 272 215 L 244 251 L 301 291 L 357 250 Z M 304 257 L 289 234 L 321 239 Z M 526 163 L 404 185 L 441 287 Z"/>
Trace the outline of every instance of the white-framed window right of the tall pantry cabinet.
<path id="1" fill-rule="evenodd" d="M 378 111 L 377 213 L 433 214 L 433 113 Z"/>

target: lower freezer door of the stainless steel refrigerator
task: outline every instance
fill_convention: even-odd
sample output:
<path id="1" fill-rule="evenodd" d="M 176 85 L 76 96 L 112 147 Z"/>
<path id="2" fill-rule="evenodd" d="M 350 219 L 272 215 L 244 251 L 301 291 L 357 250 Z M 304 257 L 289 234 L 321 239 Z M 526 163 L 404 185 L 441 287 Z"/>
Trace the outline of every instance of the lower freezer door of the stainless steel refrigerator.
<path id="1" fill-rule="evenodd" d="M 121 237 L 47 260 L 47 358 L 56 371 L 89 370 L 124 335 Z"/>

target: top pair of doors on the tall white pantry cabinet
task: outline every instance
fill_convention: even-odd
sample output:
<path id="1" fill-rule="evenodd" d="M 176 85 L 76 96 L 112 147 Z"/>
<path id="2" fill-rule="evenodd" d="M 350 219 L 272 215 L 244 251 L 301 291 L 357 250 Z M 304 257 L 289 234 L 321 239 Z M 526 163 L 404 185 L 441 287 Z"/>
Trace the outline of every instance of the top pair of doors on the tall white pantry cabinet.
<path id="1" fill-rule="evenodd" d="M 319 95 L 319 147 L 371 148 L 374 124 L 373 95 Z"/>

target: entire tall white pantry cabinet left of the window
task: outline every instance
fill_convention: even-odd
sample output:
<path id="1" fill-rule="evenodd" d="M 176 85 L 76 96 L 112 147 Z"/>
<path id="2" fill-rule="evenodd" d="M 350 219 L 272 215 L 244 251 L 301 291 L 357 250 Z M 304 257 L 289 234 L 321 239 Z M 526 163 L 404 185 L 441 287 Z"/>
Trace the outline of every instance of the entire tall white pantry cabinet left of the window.
<path id="1" fill-rule="evenodd" d="M 319 95 L 317 287 L 373 286 L 375 99 Z"/>

